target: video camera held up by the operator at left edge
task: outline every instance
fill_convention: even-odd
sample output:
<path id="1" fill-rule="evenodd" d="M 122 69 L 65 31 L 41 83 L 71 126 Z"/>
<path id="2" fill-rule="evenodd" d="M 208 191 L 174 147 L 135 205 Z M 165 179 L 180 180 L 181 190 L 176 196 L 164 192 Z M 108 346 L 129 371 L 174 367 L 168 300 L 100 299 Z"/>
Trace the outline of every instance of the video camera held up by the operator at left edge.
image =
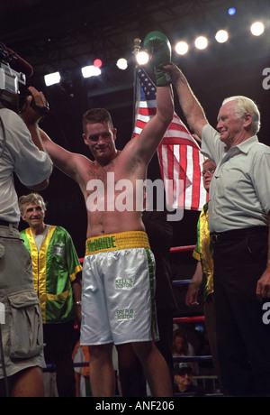
<path id="1" fill-rule="evenodd" d="M 0 103 L 14 111 L 20 109 L 20 87 L 26 89 L 26 77 L 33 69 L 14 51 L 0 42 Z"/>

